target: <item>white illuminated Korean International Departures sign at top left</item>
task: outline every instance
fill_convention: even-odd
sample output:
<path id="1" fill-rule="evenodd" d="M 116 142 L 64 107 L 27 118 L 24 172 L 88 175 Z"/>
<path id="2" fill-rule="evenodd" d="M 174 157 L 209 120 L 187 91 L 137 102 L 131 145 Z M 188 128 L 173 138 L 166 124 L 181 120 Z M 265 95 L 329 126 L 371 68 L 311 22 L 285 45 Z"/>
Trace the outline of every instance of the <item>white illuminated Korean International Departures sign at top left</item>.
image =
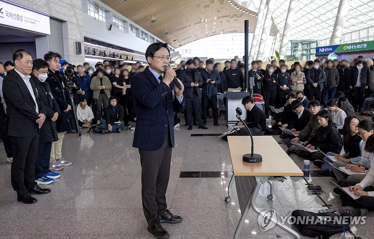
<path id="1" fill-rule="evenodd" d="M 50 35 L 49 16 L 0 1 L 0 24 Z"/>

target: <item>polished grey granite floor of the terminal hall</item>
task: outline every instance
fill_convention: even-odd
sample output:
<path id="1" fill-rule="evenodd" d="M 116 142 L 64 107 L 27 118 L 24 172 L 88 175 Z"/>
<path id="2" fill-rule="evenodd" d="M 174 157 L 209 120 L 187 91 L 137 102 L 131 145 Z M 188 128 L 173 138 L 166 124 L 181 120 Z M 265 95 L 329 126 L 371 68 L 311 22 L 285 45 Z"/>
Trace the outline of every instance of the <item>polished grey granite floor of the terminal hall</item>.
<path id="1" fill-rule="evenodd" d="M 232 165 L 227 142 L 215 135 L 226 131 L 224 121 L 220 123 L 220 127 L 215 127 L 208 120 L 209 130 L 175 128 L 176 145 L 166 196 L 169 209 L 184 220 L 176 225 L 164 224 L 171 238 L 233 238 L 240 208 L 235 186 L 232 201 L 224 202 Z M 205 136 L 191 137 L 191 134 Z M 278 136 L 275 138 L 279 140 Z M 83 133 L 82 137 L 68 134 L 62 151 L 73 165 L 60 171 L 61 177 L 54 183 L 43 186 L 52 192 L 36 195 L 38 202 L 32 205 L 16 201 L 16 193 L 10 186 L 10 164 L 1 160 L 0 239 L 153 238 L 147 232 L 142 211 L 141 167 L 138 150 L 132 148 L 132 139 L 133 132 L 127 130 L 106 135 Z M 0 148 L 0 158 L 5 159 L 2 146 Z M 285 145 L 282 148 L 285 149 Z M 291 158 L 303 168 L 303 159 L 295 155 Z M 310 175 L 315 175 L 312 171 L 318 169 L 311 165 L 310 170 Z M 181 177 L 181 171 L 195 173 L 183 173 Z M 307 182 L 320 185 L 325 192 L 320 197 L 312 195 L 307 190 Z M 264 210 L 275 208 L 278 216 L 290 215 L 295 209 L 318 212 L 326 208 L 322 206 L 325 203 L 335 209 L 341 205 L 339 196 L 332 192 L 334 186 L 329 177 L 289 177 L 284 183 L 274 185 L 274 199 L 266 199 L 269 186 L 264 185 L 256 203 Z M 372 218 L 374 213 L 370 212 L 367 223 L 352 226 L 352 232 L 362 239 L 374 238 Z M 257 214 L 251 210 L 240 238 L 293 237 L 276 227 L 262 232 Z M 341 237 L 335 235 L 332 238 Z"/>

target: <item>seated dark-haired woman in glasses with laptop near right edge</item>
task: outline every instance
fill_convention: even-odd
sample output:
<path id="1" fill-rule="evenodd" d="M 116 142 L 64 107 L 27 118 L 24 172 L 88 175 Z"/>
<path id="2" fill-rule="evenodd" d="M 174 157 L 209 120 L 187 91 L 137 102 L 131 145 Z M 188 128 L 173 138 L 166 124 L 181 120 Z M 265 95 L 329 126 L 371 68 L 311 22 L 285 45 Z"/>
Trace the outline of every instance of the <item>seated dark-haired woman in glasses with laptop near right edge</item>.
<path id="1" fill-rule="evenodd" d="M 346 167 L 349 168 L 352 172 L 355 173 L 365 173 L 371 167 L 371 161 L 373 158 L 371 154 L 365 150 L 365 145 L 368 138 L 374 133 L 374 126 L 373 122 L 370 120 L 362 120 L 358 123 L 358 133 L 361 136 L 361 139 L 364 141 L 361 145 L 361 156 L 359 161 L 357 162 L 356 159 L 351 159 L 352 164 L 346 164 L 345 162 L 334 162 L 335 167 Z M 356 164 L 353 164 L 355 162 Z M 332 171 L 335 174 L 337 180 L 344 180 L 347 179 L 349 181 L 353 181 L 359 183 L 365 175 L 362 174 L 352 174 L 348 176 L 347 174 L 337 170 L 336 168 L 332 168 Z"/>

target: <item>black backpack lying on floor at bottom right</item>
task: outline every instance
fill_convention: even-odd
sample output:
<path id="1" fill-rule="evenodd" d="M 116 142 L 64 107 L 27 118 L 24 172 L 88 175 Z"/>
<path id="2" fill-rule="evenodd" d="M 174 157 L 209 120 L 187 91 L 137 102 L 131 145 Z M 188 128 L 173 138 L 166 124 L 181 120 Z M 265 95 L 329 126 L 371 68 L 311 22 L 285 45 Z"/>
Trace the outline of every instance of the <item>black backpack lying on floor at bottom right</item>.
<path id="1" fill-rule="evenodd" d="M 339 220 L 340 216 L 334 212 L 315 213 L 295 210 L 291 215 L 296 218 L 294 226 L 303 236 L 328 239 L 337 233 L 343 233 L 343 220 Z M 332 220 L 323 223 L 324 217 L 331 218 Z M 298 218 L 299 220 L 297 220 Z M 307 220 L 300 220 L 301 218 L 307 218 Z M 335 221 L 334 218 L 337 221 Z M 350 229 L 347 222 L 344 223 L 344 229 L 346 231 Z"/>

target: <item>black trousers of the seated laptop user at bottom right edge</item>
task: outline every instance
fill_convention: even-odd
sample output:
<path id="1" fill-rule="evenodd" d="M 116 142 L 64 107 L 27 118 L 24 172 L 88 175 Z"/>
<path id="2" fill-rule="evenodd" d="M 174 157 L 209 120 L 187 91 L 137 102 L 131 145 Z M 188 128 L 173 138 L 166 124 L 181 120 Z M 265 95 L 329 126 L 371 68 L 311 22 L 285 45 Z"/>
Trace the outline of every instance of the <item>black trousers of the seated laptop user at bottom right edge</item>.
<path id="1" fill-rule="evenodd" d="M 337 183 L 340 187 L 355 186 L 357 183 L 349 180 L 340 180 Z M 373 186 L 368 186 L 364 189 L 365 192 L 374 191 Z M 374 197 L 361 196 L 358 199 L 352 199 L 346 193 L 340 193 L 341 205 L 343 207 L 350 206 L 353 208 L 366 208 L 369 211 L 374 211 Z"/>

